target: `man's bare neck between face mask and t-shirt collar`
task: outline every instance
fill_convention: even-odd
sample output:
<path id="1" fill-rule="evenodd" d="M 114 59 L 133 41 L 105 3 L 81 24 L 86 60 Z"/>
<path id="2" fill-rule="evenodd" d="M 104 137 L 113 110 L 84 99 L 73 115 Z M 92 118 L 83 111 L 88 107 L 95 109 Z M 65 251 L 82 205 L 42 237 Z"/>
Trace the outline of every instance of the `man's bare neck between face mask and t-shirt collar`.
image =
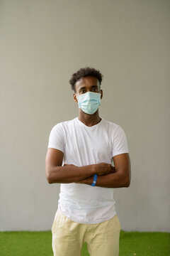
<path id="1" fill-rule="evenodd" d="M 101 117 L 99 117 L 98 110 L 94 114 L 86 114 L 79 108 L 78 119 L 89 127 L 101 122 Z"/>

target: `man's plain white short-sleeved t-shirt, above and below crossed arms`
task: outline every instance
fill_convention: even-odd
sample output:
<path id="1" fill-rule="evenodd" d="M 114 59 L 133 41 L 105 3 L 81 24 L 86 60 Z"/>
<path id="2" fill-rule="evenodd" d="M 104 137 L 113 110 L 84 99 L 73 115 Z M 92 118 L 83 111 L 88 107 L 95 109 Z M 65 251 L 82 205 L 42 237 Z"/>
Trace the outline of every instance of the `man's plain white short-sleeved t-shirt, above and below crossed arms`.
<path id="1" fill-rule="evenodd" d="M 92 127 L 86 126 L 78 117 L 56 124 L 50 132 L 48 148 L 64 152 L 62 166 L 112 164 L 113 156 L 129 152 L 123 128 L 103 118 Z M 58 209 L 77 223 L 95 224 L 109 220 L 116 214 L 113 188 L 61 183 Z"/>

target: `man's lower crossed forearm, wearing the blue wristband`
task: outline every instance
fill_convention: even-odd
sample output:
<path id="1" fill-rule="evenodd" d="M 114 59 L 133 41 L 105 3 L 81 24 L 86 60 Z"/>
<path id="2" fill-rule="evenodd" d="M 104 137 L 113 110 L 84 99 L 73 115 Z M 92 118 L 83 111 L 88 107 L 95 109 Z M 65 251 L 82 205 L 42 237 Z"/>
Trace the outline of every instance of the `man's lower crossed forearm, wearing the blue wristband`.
<path id="1" fill-rule="evenodd" d="M 94 181 L 94 176 L 91 176 L 89 178 L 85 178 L 82 181 L 79 181 L 78 183 L 91 185 L 93 181 Z M 127 177 L 115 172 L 112 174 L 98 176 L 95 186 L 101 186 L 103 188 L 122 188 L 122 187 L 128 187 L 129 183 L 128 183 Z"/>

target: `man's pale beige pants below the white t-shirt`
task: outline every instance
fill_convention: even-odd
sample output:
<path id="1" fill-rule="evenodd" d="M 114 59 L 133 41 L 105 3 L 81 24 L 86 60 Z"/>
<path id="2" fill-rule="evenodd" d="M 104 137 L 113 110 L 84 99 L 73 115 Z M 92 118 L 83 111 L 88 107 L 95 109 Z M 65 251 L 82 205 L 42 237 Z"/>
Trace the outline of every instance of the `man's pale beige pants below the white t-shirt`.
<path id="1" fill-rule="evenodd" d="M 54 256 L 81 256 L 87 243 L 90 256 L 118 256 L 120 221 L 118 215 L 96 224 L 82 224 L 69 220 L 58 209 L 52 224 Z"/>

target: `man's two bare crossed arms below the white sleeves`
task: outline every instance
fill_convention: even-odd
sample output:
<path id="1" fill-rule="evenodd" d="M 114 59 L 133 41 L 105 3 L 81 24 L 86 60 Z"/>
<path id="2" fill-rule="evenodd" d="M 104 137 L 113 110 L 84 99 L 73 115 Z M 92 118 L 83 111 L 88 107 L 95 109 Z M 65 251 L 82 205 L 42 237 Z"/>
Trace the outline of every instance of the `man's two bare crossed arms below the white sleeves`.
<path id="1" fill-rule="evenodd" d="M 101 164 L 91 164 L 88 166 L 74 166 L 67 164 L 62 166 L 63 152 L 58 149 L 47 149 L 45 159 L 45 175 L 48 183 L 83 183 L 91 185 L 94 174 L 97 177 L 95 186 L 105 188 L 129 187 L 131 179 L 130 156 L 128 153 L 113 156 L 115 167 L 103 163 L 102 168 L 106 169 L 106 174 L 101 174 Z M 109 170 L 107 170 L 107 168 Z"/>

